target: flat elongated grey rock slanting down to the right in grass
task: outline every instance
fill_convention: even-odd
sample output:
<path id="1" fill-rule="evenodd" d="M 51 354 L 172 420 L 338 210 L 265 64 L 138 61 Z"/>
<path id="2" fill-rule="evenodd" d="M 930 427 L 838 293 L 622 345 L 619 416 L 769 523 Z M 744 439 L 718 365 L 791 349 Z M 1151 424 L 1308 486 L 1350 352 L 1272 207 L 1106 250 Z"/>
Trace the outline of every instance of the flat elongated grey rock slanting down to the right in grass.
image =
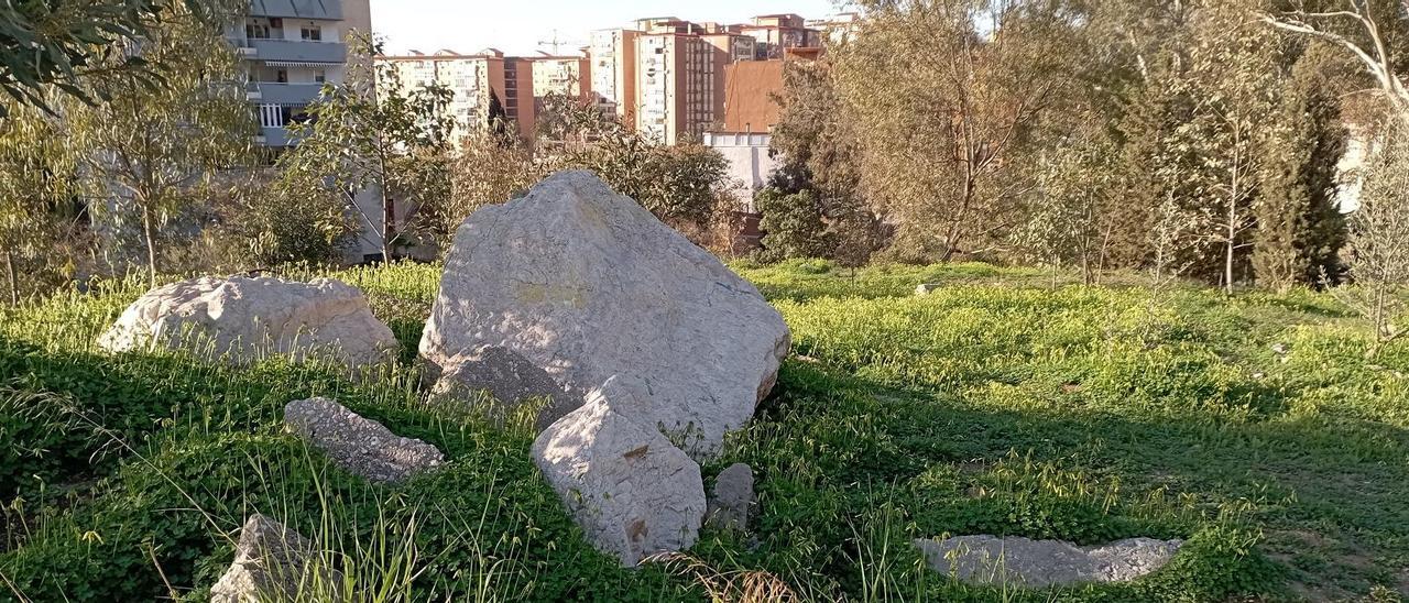
<path id="1" fill-rule="evenodd" d="M 402 482 L 445 461 L 434 445 L 396 435 L 325 397 L 290 402 L 283 423 L 335 465 L 373 482 Z"/>

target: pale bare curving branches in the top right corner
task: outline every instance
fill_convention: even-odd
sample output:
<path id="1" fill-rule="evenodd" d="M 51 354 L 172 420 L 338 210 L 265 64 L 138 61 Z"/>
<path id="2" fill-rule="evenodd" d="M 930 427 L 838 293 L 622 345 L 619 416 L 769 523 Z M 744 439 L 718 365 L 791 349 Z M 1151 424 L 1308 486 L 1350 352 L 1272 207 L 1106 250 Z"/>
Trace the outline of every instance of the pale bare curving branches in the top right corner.
<path id="1" fill-rule="evenodd" d="M 1409 123 L 1409 83 L 1402 28 L 1409 0 L 1282 0 L 1261 20 L 1284 32 L 1313 37 L 1341 48 L 1365 69 L 1381 96 Z M 1396 31 L 1398 30 L 1398 31 Z"/>

